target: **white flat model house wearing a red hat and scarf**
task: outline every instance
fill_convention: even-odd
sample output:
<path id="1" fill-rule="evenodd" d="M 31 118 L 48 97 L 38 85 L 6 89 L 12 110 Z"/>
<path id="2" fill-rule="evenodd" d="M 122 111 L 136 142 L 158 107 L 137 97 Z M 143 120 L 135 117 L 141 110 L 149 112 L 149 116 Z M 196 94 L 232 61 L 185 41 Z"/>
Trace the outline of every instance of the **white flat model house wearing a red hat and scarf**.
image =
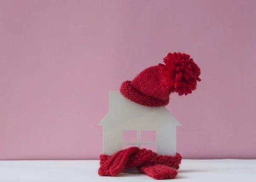
<path id="1" fill-rule="evenodd" d="M 110 91 L 109 113 L 99 125 L 103 125 L 103 154 L 112 155 L 127 145 L 155 145 L 159 155 L 176 153 L 176 126 L 180 123 L 166 107 L 145 107 L 126 99 L 119 91 Z M 137 140 L 124 142 L 125 131 L 137 133 Z M 156 140 L 143 142 L 142 134 L 147 131 L 156 131 L 152 132 Z"/>

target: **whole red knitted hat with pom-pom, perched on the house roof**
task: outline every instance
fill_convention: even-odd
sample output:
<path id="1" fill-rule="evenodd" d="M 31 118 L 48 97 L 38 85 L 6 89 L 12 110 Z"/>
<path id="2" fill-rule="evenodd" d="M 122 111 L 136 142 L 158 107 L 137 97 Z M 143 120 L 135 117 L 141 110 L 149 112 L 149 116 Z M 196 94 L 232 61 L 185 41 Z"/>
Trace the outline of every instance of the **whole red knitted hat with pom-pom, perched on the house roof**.
<path id="1" fill-rule="evenodd" d="M 188 54 L 169 53 L 164 64 L 146 68 L 132 81 L 122 83 L 120 92 L 137 104 L 159 107 L 169 103 L 169 96 L 191 94 L 196 89 L 201 71 Z"/>

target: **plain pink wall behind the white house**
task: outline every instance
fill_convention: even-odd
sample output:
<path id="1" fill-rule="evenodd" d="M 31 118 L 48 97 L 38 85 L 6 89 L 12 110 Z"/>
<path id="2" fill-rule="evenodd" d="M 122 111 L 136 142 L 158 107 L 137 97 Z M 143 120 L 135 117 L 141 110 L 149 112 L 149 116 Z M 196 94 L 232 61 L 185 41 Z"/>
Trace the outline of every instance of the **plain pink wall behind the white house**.
<path id="1" fill-rule="evenodd" d="M 109 91 L 168 52 L 202 82 L 171 96 L 183 158 L 256 159 L 254 0 L 0 0 L 0 159 L 98 159 Z"/>

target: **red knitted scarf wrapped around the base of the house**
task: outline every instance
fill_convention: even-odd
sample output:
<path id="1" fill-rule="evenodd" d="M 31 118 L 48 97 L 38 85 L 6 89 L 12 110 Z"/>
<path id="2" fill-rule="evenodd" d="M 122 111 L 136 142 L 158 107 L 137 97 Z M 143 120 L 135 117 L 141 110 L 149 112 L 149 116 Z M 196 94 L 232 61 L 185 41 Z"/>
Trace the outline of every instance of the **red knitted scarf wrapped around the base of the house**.
<path id="1" fill-rule="evenodd" d="M 137 147 L 127 148 L 116 152 L 113 156 L 100 155 L 100 176 L 117 176 L 124 170 L 137 167 L 154 179 L 173 179 L 181 162 L 180 154 L 161 156 L 157 153 Z"/>

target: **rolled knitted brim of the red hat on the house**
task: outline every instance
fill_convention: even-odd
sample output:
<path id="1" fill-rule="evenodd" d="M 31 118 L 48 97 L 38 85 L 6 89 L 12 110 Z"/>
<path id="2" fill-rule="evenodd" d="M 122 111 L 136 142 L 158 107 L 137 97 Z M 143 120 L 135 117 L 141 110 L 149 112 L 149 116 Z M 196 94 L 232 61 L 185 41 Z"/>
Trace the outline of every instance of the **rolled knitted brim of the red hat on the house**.
<path id="1" fill-rule="evenodd" d="M 137 91 L 131 86 L 131 81 L 123 82 L 120 88 L 120 92 L 124 97 L 131 100 L 132 102 L 147 107 L 161 107 L 169 104 L 169 98 L 166 100 L 161 100 L 140 93 L 140 91 Z"/>

